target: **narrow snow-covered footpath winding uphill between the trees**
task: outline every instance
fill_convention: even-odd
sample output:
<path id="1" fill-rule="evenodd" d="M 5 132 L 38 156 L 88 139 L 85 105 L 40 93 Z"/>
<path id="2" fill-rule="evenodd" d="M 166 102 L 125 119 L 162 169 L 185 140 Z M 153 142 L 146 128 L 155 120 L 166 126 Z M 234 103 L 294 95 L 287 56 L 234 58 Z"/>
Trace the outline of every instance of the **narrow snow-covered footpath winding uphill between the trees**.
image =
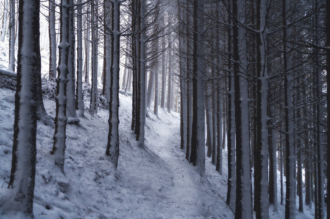
<path id="1" fill-rule="evenodd" d="M 166 162 L 173 175 L 172 186 L 167 191 L 168 203 L 164 207 L 171 212 L 171 217 L 233 218 L 219 191 L 203 181 L 185 159 L 180 149 L 180 117 L 172 114 L 162 111 L 159 119 L 153 118 L 155 121 L 150 121 L 153 128 L 147 135 L 150 149 Z"/>

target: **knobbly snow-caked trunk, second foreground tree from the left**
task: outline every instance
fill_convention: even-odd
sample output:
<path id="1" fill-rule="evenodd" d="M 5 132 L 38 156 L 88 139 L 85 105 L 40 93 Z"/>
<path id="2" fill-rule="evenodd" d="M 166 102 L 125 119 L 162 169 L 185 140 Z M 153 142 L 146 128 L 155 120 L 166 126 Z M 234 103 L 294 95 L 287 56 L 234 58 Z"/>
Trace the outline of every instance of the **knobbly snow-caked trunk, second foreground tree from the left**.
<path id="1" fill-rule="evenodd" d="M 69 25 L 70 1 L 62 0 L 60 5 L 60 44 L 58 45 L 58 66 L 56 79 L 56 115 L 54 145 L 51 154 L 54 155 L 55 165 L 64 173 L 65 130 L 68 117 L 66 116 L 66 85 L 68 82 L 69 57 Z"/>

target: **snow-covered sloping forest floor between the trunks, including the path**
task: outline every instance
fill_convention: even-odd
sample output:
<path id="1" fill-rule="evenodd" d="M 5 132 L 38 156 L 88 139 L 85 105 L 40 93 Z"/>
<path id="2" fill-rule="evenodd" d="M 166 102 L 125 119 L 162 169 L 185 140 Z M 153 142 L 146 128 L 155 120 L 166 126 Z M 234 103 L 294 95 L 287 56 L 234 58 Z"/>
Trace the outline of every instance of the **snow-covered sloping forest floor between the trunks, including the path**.
<path id="1" fill-rule="evenodd" d="M 6 195 L 10 176 L 14 93 L 14 90 L 0 88 L 0 199 Z M 223 153 L 223 176 L 207 158 L 207 180 L 201 178 L 180 149 L 180 115 L 162 109 L 159 109 L 159 118 L 149 111 L 146 149 L 141 149 L 130 129 L 131 97 L 119 94 L 119 98 L 120 152 L 116 171 L 105 156 L 108 110 L 99 109 L 92 116 L 87 110 L 88 98 L 85 98 L 81 126 L 67 125 L 65 175 L 54 167 L 49 153 L 54 128 L 38 122 L 35 217 L 234 218 L 225 203 L 226 151 Z M 53 118 L 55 101 L 45 98 L 44 103 Z M 271 218 L 284 218 L 282 205 L 278 213 L 272 207 L 269 211 Z M 307 207 L 305 214 L 297 211 L 296 216 L 313 218 L 313 212 Z M 15 218 L 17 215 L 8 212 L 3 216 Z"/>

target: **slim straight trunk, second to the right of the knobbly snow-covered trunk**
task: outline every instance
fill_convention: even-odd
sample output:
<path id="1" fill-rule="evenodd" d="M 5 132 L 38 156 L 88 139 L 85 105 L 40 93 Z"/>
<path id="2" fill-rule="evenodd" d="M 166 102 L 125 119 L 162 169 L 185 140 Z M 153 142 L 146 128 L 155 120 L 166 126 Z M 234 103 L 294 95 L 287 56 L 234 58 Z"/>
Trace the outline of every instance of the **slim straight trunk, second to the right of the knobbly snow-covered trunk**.
<path id="1" fill-rule="evenodd" d="M 81 4 L 78 0 L 77 4 Z M 77 13 L 77 87 L 76 87 L 76 109 L 78 116 L 83 117 L 83 95 L 82 95 L 82 6 L 78 6 Z"/>

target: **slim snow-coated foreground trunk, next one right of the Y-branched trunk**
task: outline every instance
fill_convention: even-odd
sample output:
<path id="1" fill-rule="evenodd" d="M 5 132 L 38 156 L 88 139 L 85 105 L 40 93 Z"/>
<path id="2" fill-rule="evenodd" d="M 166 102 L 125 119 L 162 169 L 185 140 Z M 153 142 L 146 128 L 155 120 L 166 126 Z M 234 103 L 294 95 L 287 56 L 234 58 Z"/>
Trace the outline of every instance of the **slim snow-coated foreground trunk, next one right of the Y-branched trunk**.
<path id="1" fill-rule="evenodd" d="M 293 145 L 293 105 L 292 105 L 292 77 L 290 51 L 290 28 L 286 27 L 289 21 L 290 0 L 282 0 L 283 21 L 283 70 L 284 70 L 284 108 L 285 108 L 285 151 L 286 151 L 286 192 L 285 218 L 295 218 L 296 215 L 296 178 L 295 155 Z"/>

